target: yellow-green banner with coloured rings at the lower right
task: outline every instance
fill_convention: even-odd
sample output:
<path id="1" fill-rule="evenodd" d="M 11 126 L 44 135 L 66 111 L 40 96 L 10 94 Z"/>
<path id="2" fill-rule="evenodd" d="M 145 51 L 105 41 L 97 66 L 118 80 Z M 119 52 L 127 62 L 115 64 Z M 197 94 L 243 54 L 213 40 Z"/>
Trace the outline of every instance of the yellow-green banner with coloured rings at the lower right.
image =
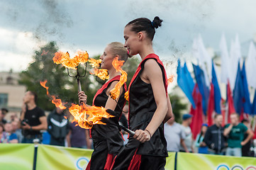
<path id="1" fill-rule="evenodd" d="M 256 170 L 256 159 L 212 154 L 177 154 L 177 170 Z"/>

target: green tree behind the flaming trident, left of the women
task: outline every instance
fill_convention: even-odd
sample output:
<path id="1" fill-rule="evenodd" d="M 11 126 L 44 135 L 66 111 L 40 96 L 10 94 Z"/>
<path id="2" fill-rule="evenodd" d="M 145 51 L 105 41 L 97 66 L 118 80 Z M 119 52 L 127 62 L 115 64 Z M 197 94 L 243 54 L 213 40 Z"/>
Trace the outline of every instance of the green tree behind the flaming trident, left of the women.
<path id="1" fill-rule="evenodd" d="M 35 91 L 38 94 L 38 106 L 47 111 L 51 111 L 55 106 L 46 95 L 46 90 L 40 86 L 40 81 L 43 80 L 48 80 L 46 86 L 49 86 L 51 95 L 55 95 L 67 103 L 78 103 L 77 79 L 68 77 L 67 69 L 52 61 L 57 50 L 55 42 L 49 42 L 44 47 L 40 47 L 40 50 L 34 52 L 33 62 L 20 74 L 19 83 L 26 85 L 28 91 Z M 79 72 L 85 72 L 84 66 L 79 67 Z M 76 74 L 76 70 L 70 70 L 70 74 Z M 84 78 L 81 78 L 81 83 L 82 90 L 88 96 L 88 103 L 91 104 L 97 84 L 89 86 L 91 84 L 89 77 L 90 75 L 87 73 Z"/>

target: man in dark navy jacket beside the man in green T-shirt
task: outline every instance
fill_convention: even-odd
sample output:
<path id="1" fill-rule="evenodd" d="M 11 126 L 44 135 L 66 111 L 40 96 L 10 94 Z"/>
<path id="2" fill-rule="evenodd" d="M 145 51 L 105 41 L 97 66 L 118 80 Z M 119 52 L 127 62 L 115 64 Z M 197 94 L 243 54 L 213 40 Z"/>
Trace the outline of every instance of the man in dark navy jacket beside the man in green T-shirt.
<path id="1" fill-rule="evenodd" d="M 223 115 L 214 115 L 214 125 L 211 125 L 204 135 L 204 142 L 208 147 L 209 154 L 224 154 L 226 148 L 226 138 L 223 135 L 224 128 L 221 127 L 223 123 Z"/>

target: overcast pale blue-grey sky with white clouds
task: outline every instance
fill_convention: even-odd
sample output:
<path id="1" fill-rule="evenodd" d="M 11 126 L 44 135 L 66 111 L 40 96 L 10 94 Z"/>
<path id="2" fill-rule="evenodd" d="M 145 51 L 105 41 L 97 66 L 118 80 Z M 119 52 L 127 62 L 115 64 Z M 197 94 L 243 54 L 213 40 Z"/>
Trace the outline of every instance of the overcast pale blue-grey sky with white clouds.
<path id="1" fill-rule="evenodd" d="M 52 40 L 63 51 L 99 55 L 109 42 L 124 42 L 124 26 L 138 17 L 163 19 L 153 43 L 165 63 L 190 52 L 199 33 L 217 52 L 222 33 L 228 47 L 238 33 L 247 55 L 256 34 L 255 6 L 255 0 L 1 0 L 0 71 L 26 69 L 33 51 Z"/>

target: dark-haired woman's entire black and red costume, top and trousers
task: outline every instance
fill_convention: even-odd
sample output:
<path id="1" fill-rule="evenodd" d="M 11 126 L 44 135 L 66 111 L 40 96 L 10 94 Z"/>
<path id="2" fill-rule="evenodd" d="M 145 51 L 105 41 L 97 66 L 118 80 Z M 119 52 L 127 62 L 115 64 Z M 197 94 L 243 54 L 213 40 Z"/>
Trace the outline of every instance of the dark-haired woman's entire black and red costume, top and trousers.
<path id="1" fill-rule="evenodd" d="M 167 77 L 165 68 L 159 57 L 150 54 L 140 62 L 129 86 L 129 128 L 130 130 L 145 130 L 154 115 L 157 105 L 151 84 L 146 84 L 140 74 L 147 60 L 154 59 L 162 69 L 163 83 L 167 94 Z M 111 169 L 165 169 L 165 159 L 168 157 L 167 142 L 164 135 L 164 123 L 147 142 L 140 143 L 133 136 L 114 159 Z"/>

